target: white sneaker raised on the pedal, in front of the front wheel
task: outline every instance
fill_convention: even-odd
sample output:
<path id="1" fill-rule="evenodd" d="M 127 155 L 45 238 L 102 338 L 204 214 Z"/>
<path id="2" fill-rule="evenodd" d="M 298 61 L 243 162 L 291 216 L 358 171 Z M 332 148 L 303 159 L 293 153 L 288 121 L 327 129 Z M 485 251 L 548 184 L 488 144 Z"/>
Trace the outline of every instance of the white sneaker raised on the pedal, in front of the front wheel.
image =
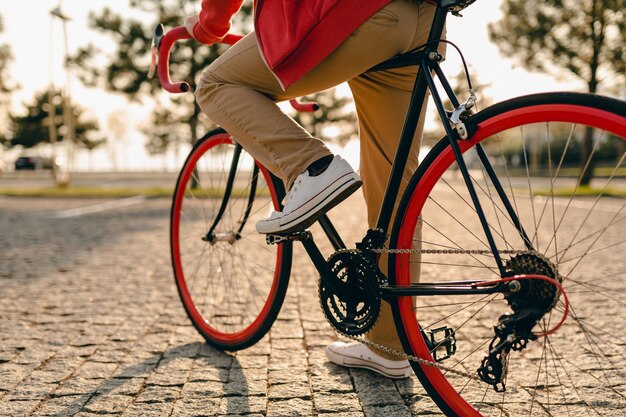
<path id="1" fill-rule="evenodd" d="M 259 221 L 256 230 L 265 234 L 304 230 L 360 186 L 361 177 L 336 155 L 321 174 L 300 174 L 285 196 L 283 211 L 275 211 L 268 219 Z"/>

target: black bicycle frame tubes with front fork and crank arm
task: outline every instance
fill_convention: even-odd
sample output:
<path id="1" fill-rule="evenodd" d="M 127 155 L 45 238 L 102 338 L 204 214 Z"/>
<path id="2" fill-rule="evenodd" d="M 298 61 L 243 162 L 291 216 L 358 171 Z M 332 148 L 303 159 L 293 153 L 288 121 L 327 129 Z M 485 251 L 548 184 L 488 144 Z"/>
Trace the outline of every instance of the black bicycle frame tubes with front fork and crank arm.
<path id="1" fill-rule="evenodd" d="M 367 72 L 376 72 L 376 71 L 384 71 L 394 68 L 401 68 L 407 66 L 417 65 L 419 66 L 417 77 L 415 79 L 415 84 L 413 87 L 413 92 L 411 95 L 411 100 L 409 103 L 409 108 L 407 110 L 407 116 L 404 121 L 404 125 L 402 127 L 402 133 L 400 136 L 400 140 L 398 143 L 398 147 L 396 150 L 396 156 L 394 158 L 391 174 L 389 176 L 389 180 L 387 182 L 387 188 L 385 190 L 385 195 L 383 197 L 383 203 L 381 206 L 381 210 L 376 222 L 376 228 L 369 230 L 366 238 L 364 238 L 361 244 L 357 244 L 359 248 L 364 250 L 372 250 L 372 249 L 381 249 L 383 248 L 384 242 L 388 235 L 388 230 L 391 227 L 391 220 L 393 214 L 393 208 L 395 206 L 398 192 L 400 190 L 400 183 L 403 177 L 404 169 L 406 167 L 406 163 L 408 161 L 408 155 L 410 154 L 411 146 L 413 144 L 413 137 L 417 130 L 417 124 L 419 121 L 422 105 L 426 98 L 427 91 L 430 91 L 432 94 L 433 101 L 437 108 L 437 113 L 443 122 L 443 126 L 445 128 L 447 137 L 450 141 L 450 146 L 454 152 L 456 162 L 459 165 L 459 170 L 463 176 L 465 185 L 468 189 L 472 202 L 474 204 L 474 208 L 476 209 L 476 213 L 480 219 L 483 231 L 487 238 L 489 248 L 493 253 L 494 259 L 498 266 L 499 272 L 501 276 L 505 276 L 505 268 L 502 262 L 502 258 L 500 257 L 500 253 L 496 246 L 495 240 L 493 238 L 493 234 L 489 228 L 489 224 L 487 223 L 487 219 L 485 217 L 485 213 L 481 206 L 481 203 L 478 198 L 478 194 L 474 187 L 474 184 L 471 180 L 468 168 L 463 160 L 463 155 L 461 149 L 459 147 L 458 141 L 460 140 L 458 132 L 452 128 L 449 123 L 448 114 L 443 106 L 443 101 L 439 95 L 437 86 L 435 84 L 434 76 L 435 74 L 439 82 L 441 83 L 447 97 L 450 99 L 452 105 L 456 108 L 459 106 L 459 101 L 454 94 L 450 83 L 445 78 L 443 71 L 439 65 L 440 61 L 442 61 L 443 57 L 438 52 L 438 46 L 440 43 L 441 35 L 443 33 L 443 29 L 445 27 L 446 18 L 447 18 L 448 10 L 445 8 L 437 8 L 433 20 L 433 24 L 429 33 L 428 42 L 423 48 L 416 49 L 414 51 L 399 55 L 397 57 L 391 58 L 379 65 L 372 67 Z M 470 134 L 471 134 L 470 128 Z M 480 146 L 480 144 L 476 145 L 479 159 L 481 163 L 485 167 L 485 171 L 489 178 L 491 179 L 496 192 L 500 199 L 503 202 L 505 209 L 511 217 L 513 224 L 518 229 L 520 236 L 523 238 L 526 247 L 528 249 L 532 248 L 532 243 L 528 238 L 526 232 L 524 231 L 521 223 L 511 205 L 506 193 L 502 185 L 500 184 L 498 178 L 495 175 L 493 167 L 491 166 L 484 149 Z M 235 148 L 235 154 L 233 156 L 233 162 L 231 165 L 231 172 L 229 175 L 227 190 L 224 194 L 224 200 L 222 201 L 222 207 L 219 210 L 218 218 L 216 218 L 214 224 L 211 226 L 210 232 L 213 231 L 217 223 L 219 222 L 219 218 L 221 217 L 221 212 L 223 208 L 225 208 L 228 199 L 230 198 L 231 188 L 232 188 L 232 177 L 234 177 L 234 172 L 237 169 L 238 161 L 239 161 L 239 152 L 240 148 L 237 146 Z M 258 171 L 257 171 L 258 173 Z M 272 181 L 274 185 L 281 184 L 281 181 L 272 175 Z M 278 187 L 280 189 L 280 194 L 284 194 L 283 187 Z M 256 181 L 251 186 L 250 195 L 248 196 L 249 207 L 252 205 L 252 202 L 256 195 Z M 247 217 L 249 215 L 249 210 L 244 214 L 244 218 L 242 219 L 242 223 L 245 224 L 247 221 Z M 326 237 L 329 239 L 331 245 L 335 250 L 344 249 L 346 245 L 341 240 L 339 233 L 333 226 L 332 222 L 328 218 L 328 216 L 324 215 L 318 220 L 322 230 L 324 231 Z M 369 239 L 370 236 L 378 236 L 378 239 Z M 381 239 L 382 237 L 382 239 Z M 268 239 L 268 242 L 279 242 L 279 241 L 294 241 L 299 240 L 304 245 L 309 257 L 313 261 L 313 264 L 317 268 L 318 272 L 322 276 L 322 278 L 330 277 L 331 272 L 326 262 L 326 258 L 322 255 L 319 248 L 315 244 L 313 240 L 313 235 L 308 232 L 300 232 L 294 233 L 289 236 L 274 236 L 275 239 Z M 367 242 L 367 243 L 366 243 Z M 370 255 L 372 252 L 370 252 Z M 395 256 L 391 254 L 389 256 L 389 270 L 393 271 L 393 265 L 395 264 Z M 332 280 L 327 280 L 328 284 L 332 286 Z M 381 296 L 386 299 L 399 297 L 399 296 L 429 296 L 429 295 L 465 295 L 465 294 L 491 294 L 495 292 L 501 292 L 504 289 L 502 285 L 488 285 L 485 286 L 479 285 L 482 281 L 457 281 L 457 282 L 442 282 L 442 283 L 429 283 L 429 284 L 411 284 L 408 286 L 393 286 L 393 285 L 383 285 L 381 287 Z"/>

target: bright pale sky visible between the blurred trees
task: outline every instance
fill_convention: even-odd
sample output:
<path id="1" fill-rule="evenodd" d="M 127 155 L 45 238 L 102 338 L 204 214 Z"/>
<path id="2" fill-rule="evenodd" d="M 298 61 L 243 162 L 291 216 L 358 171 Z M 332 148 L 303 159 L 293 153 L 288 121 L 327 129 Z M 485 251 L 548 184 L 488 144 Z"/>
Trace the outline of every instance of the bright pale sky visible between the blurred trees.
<path id="1" fill-rule="evenodd" d="M 463 18 L 451 16 L 448 21 L 448 39 L 463 51 L 474 74 L 474 83 L 488 84 L 485 94 L 494 101 L 541 91 L 580 90 L 582 86 L 572 78 L 556 80 L 545 74 L 530 73 L 499 54 L 497 47 L 489 41 L 487 24 L 501 16 L 500 4 L 501 0 L 480 0 L 464 11 Z M 62 25 L 49 13 L 58 5 L 59 0 L 0 0 L 0 14 L 5 24 L 0 44 L 11 47 L 14 60 L 9 73 L 20 86 L 12 95 L 13 112 L 23 111 L 22 103 L 31 101 L 36 91 L 46 89 L 51 82 L 59 88 L 66 83 Z M 110 40 L 87 27 L 90 11 L 97 12 L 108 6 L 126 15 L 134 13 L 128 6 L 128 0 L 63 0 L 61 5 L 63 13 L 71 18 L 67 23 L 70 53 L 88 42 L 96 43 L 105 50 L 113 47 Z M 189 0 L 186 10 L 181 12 L 181 24 L 186 14 L 199 8 L 199 0 Z M 459 65 L 458 56 L 449 48 L 443 65 L 446 74 L 454 76 Z M 149 116 L 146 110 L 149 100 L 144 105 L 129 104 L 121 96 L 87 89 L 74 78 L 70 80 L 70 88 L 74 102 L 98 119 L 105 134 L 111 113 L 121 117 L 129 126 L 124 138 L 118 138 L 106 149 L 98 150 L 96 155 L 78 155 L 78 169 L 89 166 L 92 169 L 107 169 L 111 167 L 113 158 L 117 161 L 115 165 L 123 169 L 176 168 L 178 162 L 172 160 L 171 155 L 150 158 L 143 149 L 145 139 L 137 129 Z M 9 158 L 5 155 L 4 159 Z"/>

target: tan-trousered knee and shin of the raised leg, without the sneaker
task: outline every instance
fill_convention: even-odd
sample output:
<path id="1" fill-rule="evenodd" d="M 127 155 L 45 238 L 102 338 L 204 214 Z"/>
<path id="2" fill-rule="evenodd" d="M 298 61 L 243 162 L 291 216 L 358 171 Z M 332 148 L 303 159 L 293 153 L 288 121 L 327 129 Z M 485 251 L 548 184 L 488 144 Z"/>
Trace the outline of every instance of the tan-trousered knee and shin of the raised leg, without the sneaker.
<path id="1" fill-rule="evenodd" d="M 307 166 L 331 152 L 276 106 L 279 96 L 292 98 L 263 62 L 254 33 L 215 60 L 196 90 L 202 111 L 289 189 Z"/>

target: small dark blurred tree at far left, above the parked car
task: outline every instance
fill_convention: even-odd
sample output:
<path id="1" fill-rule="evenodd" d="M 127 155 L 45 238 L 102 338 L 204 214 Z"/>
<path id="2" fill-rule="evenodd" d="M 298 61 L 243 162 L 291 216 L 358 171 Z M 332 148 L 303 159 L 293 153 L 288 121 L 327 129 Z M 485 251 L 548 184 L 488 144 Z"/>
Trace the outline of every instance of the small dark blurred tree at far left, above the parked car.
<path id="1" fill-rule="evenodd" d="M 49 91 L 36 93 L 33 103 L 25 105 L 25 116 L 9 116 L 11 138 L 7 141 L 8 146 L 32 148 L 40 143 L 49 143 L 48 123 L 51 119 L 54 119 L 59 132 L 57 141 L 64 140 L 67 129 L 63 126 L 63 96 L 59 91 L 54 91 L 52 94 L 54 118 L 48 117 L 51 110 L 48 99 Z M 76 144 L 92 150 L 104 143 L 105 139 L 97 135 L 98 124 L 96 121 L 83 117 L 83 111 L 77 106 L 73 106 L 72 110 L 74 111 Z"/>

